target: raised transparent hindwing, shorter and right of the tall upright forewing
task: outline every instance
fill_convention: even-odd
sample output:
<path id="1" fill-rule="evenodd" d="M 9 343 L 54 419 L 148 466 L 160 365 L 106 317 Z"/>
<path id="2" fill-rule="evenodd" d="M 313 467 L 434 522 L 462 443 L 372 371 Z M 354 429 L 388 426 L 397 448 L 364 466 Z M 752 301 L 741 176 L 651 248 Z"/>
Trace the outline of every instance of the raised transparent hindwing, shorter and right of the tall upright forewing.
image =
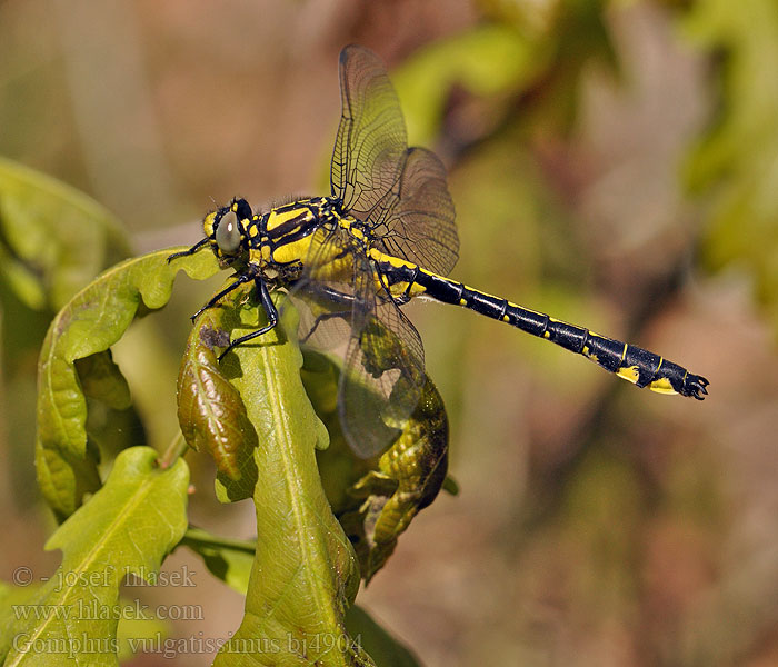
<path id="1" fill-rule="evenodd" d="M 423 148 L 409 148 L 400 177 L 367 219 L 375 246 L 447 276 L 459 257 L 459 235 L 446 168 Z"/>

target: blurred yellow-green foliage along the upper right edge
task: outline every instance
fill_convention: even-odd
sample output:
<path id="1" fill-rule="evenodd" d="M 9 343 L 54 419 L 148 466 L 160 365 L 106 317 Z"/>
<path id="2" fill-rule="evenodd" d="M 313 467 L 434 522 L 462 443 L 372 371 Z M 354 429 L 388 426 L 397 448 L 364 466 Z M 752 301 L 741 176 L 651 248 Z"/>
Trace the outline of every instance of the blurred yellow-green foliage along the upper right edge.
<path id="1" fill-rule="evenodd" d="M 750 275 L 778 334 L 778 4 L 698 0 L 682 27 L 717 57 L 719 107 L 687 163 L 710 220 L 705 258 Z"/>

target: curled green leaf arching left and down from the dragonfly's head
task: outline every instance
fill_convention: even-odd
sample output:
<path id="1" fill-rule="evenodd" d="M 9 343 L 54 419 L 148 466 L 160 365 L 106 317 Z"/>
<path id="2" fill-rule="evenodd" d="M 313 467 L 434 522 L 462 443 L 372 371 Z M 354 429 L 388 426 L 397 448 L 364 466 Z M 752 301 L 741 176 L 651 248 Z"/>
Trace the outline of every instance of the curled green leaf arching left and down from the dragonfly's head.
<path id="1" fill-rule="evenodd" d="M 153 310 L 168 302 L 179 268 L 198 279 L 219 270 L 210 252 L 169 265 L 170 252 L 160 250 L 108 269 L 49 327 L 38 365 L 36 467 L 43 496 L 60 518 L 100 487 L 99 455 L 88 447 L 84 388 L 110 407 L 127 405 L 123 378 L 106 350 L 123 336 L 141 306 Z M 99 358 L 87 360 L 91 355 Z M 79 368 L 77 360 L 84 360 Z"/>

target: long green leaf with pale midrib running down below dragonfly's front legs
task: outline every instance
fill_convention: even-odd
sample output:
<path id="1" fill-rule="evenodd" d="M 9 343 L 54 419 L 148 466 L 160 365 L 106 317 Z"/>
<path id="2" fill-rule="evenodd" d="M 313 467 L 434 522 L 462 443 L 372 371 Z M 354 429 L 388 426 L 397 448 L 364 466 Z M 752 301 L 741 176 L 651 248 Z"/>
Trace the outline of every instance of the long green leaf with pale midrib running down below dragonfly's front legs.
<path id="1" fill-rule="evenodd" d="M 250 286 L 236 290 L 215 309 L 240 318 L 228 330 L 232 337 L 256 330 L 251 292 Z M 217 367 L 246 405 L 261 471 L 253 489 L 257 551 L 246 614 L 219 651 L 213 663 L 219 666 L 372 665 L 343 625 L 359 571 L 321 488 L 315 449 L 328 436 L 300 381 L 300 351 L 283 334 L 297 330 L 293 317 L 287 309 L 272 331 Z"/>

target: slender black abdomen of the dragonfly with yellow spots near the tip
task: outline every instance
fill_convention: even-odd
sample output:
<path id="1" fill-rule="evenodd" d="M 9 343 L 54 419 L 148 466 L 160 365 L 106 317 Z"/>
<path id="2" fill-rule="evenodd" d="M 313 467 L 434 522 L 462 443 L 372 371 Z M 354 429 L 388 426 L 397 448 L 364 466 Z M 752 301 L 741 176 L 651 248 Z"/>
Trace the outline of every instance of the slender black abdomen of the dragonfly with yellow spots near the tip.
<path id="1" fill-rule="evenodd" d="M 637 346 L 606 338 L 584 327 L 569 325 L 545 312 L 517 306 L 423 269 L 417 271 L 413 282 L 413 291 L 421 291 L 445 303 L 475 310 L 532 336 L 550 340 L 585 356 L 638 387 L 648 387 L 660 394 L 680 394 L 699 400 L 707 394 L 707 379 Z"/>

